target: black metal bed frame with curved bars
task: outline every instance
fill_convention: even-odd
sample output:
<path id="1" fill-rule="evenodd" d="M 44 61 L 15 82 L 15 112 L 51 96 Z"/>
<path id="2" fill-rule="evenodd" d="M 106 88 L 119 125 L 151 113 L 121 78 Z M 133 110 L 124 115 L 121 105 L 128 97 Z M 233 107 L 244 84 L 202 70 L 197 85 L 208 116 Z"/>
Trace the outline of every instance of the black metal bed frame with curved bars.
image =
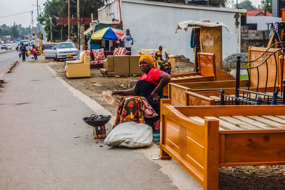
<path id="1" fill-rule="evenodd" d="M 230 96 L 230 95 L 225 95 L 224 89 L 221 90 L 221 105 L 261 105 L 261 103 L 266 103 L 267 105 L 272 104 L 272 99 L 273 95 L 267 94 L 267 83 L 268 83 L 268 64 L 267 60 L 271 57 L 274 56 L 275 59 L 275 66 L 276 66 L 276 76 L 275 76 L 275 82 L 274 82 L 274 91 L 273 92 L 278 92 L 279 89 L 276 89 L 276 82 L 277 82 L 277 77 L 278 77 L 278 57 L 276 58 L 276 52 L 281 51 L 281 54 L 284 57 L 285 54 L 285 48 L 284 48 L 285 42 L 278 42 L 267 48 L 258 58 L 255 60 L 251 61 L 241 61 L 241 56 L 237 55 L 236 58 L 236 90 L 235 90 L 235 96 Z M 268 50 L 272 47 L 274 48 L 274 51 L 270 53 Z M 258 66 L 254 66 L 253 63 L 257 62 L 258 59 L 262 57 L 262 63 L 259 64 Z M 284 71 L 284 59 L 282 59 L 282 64 L 281 64 L 281 71 Z M 249 68 L 240 68 L 241 63 L 248 63 Z M 264 88 L 264 93 L 258 92 L 259 88 L 259 68 L 261 65 L 265 64 L 267 68 L 266 72 L 266 81 L 265 81 L 265 87 Z M 247 90 L 240 89 L 239 88 L 239 83 L 240 83 L 240 70 L 241 69 L 246 69 L 247 74 L 248 74 L 248 88 Z M 257 69 L 257 86 L 256 86 L 256 91 L 250 91 L 250 69 Z M 285 79 L 283 79 L 283 72 L 281 72 L 281 81 L 283 82 L 283 85 L 280 85 L 280 96 L 276 96 L 276 103 L 277 104 L 283 104 L 285 105 L 285 93 L 283 92 L 283 89 L 285 89 Z M 280 82 L 281 82 L 280 81 Z M 242 92 L 242 95 L 239 94 L 240 91 Z M 246 94 L 245 94 L 246 93 Z M 279 94 L 278 93 L 278 94 Z"/>

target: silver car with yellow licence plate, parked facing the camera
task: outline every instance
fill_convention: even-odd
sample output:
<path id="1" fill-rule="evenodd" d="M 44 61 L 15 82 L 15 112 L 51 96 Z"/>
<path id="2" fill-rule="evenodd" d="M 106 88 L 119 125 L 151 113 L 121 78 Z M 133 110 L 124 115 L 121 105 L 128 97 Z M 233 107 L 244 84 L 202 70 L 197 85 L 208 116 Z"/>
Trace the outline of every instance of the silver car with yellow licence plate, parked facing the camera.
<path id="1" fill-rule="evenodd" d="M 55 47 L 55 60 L 68 59 L 77 56 L 78 49 L 72 42 L 60 42 Z"/>

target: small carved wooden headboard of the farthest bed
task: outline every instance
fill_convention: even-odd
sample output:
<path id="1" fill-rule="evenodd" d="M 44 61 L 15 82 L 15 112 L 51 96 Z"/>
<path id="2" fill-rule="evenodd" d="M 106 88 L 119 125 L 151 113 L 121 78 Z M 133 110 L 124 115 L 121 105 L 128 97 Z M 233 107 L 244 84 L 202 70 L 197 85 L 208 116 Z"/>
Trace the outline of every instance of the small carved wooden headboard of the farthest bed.
<path id="1" fill-rule="evenodd" d="M 199 72 L 201 76 L 214 76 L 216 81 L 216 61 L 213 53 L 197 53 Z"/>

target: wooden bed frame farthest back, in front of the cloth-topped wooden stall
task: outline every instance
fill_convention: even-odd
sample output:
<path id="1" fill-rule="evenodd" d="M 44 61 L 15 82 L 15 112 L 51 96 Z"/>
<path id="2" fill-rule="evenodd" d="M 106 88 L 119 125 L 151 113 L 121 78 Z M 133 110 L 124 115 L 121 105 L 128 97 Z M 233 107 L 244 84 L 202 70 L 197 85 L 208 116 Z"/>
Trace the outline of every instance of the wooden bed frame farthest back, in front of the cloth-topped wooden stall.
<path id="1" fill-rule="evenodd" d="M 208 81 L 224 81 L 235 80 L 231 74 L 225 71 L 216 70 L 215 54 L 197 53 L 199 72 L 188 74 L 170 75 L 172 83 L 186 82 L 208 82 Z M 164 87 L 163 95 L 168 95 L 168 86 Z"/>

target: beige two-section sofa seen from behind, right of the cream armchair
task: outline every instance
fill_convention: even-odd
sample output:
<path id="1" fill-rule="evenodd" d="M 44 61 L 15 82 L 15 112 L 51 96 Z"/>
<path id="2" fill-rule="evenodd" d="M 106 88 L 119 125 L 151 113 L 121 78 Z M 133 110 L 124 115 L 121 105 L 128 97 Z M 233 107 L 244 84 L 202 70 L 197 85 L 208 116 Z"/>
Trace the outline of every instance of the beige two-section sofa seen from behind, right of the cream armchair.
<path id="1" fill-rule="evenodd" d="M 143 74 L 138 66 L 140 55 L 108 55 L 103 61 L 101 73 L 105 76 Z"/>

